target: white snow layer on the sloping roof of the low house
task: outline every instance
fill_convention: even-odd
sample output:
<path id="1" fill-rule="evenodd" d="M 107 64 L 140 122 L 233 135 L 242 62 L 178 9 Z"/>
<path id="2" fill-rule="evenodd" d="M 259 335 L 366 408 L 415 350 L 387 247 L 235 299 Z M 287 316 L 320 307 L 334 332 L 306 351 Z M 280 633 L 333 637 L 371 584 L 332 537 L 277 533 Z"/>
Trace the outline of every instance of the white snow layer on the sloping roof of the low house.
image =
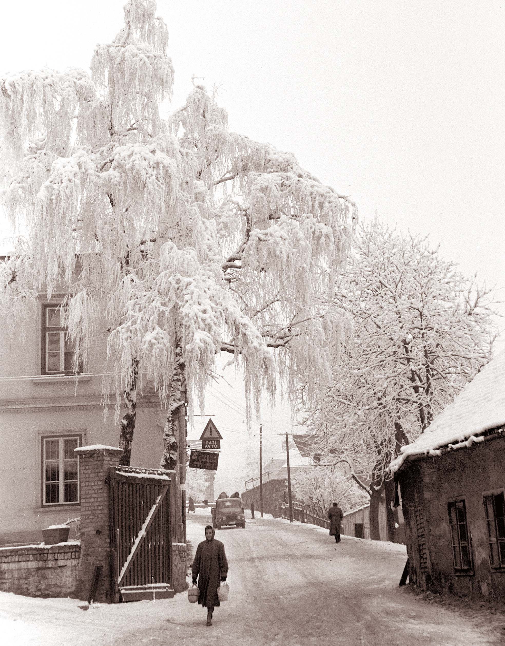
<path id="1" fill-rule="evenodd" d="M 469 448 L 490 428 L 505 424 L 505 351 L 480 373 L 428 426 L 415 442 L 402 446 L 401 455 L 389 464 L 395 473 L 409 455 L 441 455 L 440 448 Z"/>

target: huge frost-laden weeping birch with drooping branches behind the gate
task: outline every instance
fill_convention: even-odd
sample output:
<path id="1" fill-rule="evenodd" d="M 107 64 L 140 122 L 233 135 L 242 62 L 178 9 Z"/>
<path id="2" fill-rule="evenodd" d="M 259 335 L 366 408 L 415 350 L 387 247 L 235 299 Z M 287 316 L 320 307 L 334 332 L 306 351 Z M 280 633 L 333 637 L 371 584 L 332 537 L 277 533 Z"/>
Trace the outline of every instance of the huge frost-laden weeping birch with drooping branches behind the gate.
<path id="1" fill-rule="evenodd" d="M 174 67 L 152 0 L 129 0 L 125 26 L 75 68 L 0 79 L 3 206 L 19 238 L 1 267 L 1 308 L 23 317 L 39 293 L 67 294 L 86 364 L 108 331 L 121 463 L 149 380 L 167 407 L 161 466 L 174 468 L 180 407 L 191 414 L 220 351 L 242 367 L 248 415 L 260 393 L 307 394 L 329 380 L 340 320 L 328 307 L 356 207 L 292 154 L 229 132 L 201 85 L 167 119 Z M 104 326 L 104 327 L 105 327 Z M 124 401 L 121 417 L 120 404 Z"/>

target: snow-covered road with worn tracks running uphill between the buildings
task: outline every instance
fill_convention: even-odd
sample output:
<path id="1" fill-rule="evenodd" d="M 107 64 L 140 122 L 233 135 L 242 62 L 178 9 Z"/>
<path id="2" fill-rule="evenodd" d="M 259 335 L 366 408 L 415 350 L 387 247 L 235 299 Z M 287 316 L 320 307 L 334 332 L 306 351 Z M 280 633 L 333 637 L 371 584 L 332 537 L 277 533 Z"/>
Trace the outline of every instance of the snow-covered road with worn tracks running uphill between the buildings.
<path id="1" fill-rule="evenodd" d="M 75 599 L 32 599 L 0 592 L 0 642 L 125 646 L 170 644 L 451 645 L 503 643 L 505 633 L 461 612 L 420 603 L 398 581 L 406 550 L 391 543 L 343 537 L 271 517 L 247 519 L 245 530 L 216 532 L 227 552 L 230 599 L 214 612 L 174 599 L 94 605 Z M 188 519 L 192 550 L 210 521 Z M 191 565 L 191 561 L 188 566 Z M 189 579 L 191 581 L 191 579 Z M 500 634 L 501 632 L 501 634 Z"/>

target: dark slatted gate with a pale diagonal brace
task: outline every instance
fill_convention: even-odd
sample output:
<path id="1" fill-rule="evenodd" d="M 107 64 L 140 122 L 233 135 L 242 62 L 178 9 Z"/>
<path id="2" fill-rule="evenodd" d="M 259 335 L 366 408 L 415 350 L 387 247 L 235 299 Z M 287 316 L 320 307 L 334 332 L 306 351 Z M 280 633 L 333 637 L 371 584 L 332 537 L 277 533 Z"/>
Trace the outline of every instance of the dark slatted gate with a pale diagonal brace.
<path id="1" fill-rule="evenodd" d="M 110 468 L 114 594 L 123 601 L 172 598 L 170 482 L 173 471 Z"/>

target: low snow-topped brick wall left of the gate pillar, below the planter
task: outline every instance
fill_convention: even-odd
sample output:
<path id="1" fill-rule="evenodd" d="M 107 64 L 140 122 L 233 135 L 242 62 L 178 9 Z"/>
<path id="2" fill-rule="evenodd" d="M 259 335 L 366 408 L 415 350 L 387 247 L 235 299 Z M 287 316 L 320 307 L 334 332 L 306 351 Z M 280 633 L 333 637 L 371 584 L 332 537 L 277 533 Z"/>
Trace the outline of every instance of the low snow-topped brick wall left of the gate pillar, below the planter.
<path id="1" fill-rule="evenodd" d="M 77 597 L 79 543 L 0 548 L 0 590 L 30 597 Z"/>

